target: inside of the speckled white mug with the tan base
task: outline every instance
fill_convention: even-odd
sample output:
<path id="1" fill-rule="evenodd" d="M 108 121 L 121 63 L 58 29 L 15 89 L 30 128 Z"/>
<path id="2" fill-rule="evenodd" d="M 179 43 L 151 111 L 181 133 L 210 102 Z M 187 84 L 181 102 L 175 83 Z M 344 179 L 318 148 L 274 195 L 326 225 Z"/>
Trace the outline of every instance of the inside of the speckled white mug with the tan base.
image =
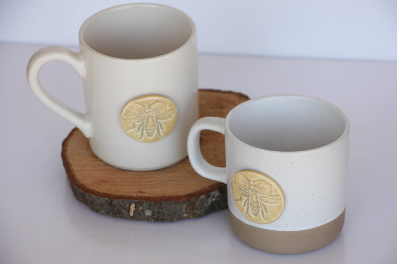
<path id="1" fill-rule="evenodd" d="M 302 96 L 251 100 L 233 109 L 227 119 L 230 132 L 244 143 L 283 152 L 328 145 L 349 125 L 336 106 Z"/>

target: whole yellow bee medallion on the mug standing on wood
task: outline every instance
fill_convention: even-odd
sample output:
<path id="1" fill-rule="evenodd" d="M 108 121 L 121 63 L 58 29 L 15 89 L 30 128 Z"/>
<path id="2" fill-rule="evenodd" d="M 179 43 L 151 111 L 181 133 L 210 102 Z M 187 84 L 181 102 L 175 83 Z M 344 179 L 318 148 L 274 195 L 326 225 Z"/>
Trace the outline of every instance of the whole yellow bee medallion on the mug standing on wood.
<path id="1" fill-rule="evenodd" d="M 128 102 L 121 111 L 124 131 L 133 139 L 149 143 L 163 139 L 174 128 L 177 108 L 171 99 L 145 95 Z"/>

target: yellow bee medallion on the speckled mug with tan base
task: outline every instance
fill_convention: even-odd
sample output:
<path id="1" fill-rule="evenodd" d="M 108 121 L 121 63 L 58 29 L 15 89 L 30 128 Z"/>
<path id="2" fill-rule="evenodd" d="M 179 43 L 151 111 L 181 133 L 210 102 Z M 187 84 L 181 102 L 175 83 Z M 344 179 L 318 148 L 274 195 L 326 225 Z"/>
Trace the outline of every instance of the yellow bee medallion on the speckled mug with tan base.
<path id="1" fill-rule="evenodd" d="M 284 194 L 269 176 L 255 170 L 241 170 L 232 178 L 232 192 L 237 208 L 249 220 L 267 224 L 284 210 Z"/>

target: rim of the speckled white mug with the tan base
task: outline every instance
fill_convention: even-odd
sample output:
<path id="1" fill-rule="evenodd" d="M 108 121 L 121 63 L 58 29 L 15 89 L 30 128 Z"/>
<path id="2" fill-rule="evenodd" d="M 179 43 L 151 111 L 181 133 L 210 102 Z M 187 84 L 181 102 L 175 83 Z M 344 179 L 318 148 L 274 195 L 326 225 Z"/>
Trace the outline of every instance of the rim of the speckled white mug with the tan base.
<path id="1" fill-rule="evenodd" d="M 322 145 L 318 148 L 314 148 L 314 149 L 307 149 L 307 150 L 299 150 L 299 151 L 276 151 L 276 150 L 269 150 L 269 149 L 263 149 L 263 148 L 258 148 L 255 147 L 253 145 L 250 145 L 244 141 L 242 141 L 241 139 L 239 139 L 236 135 L 233 134 L 233 132 L 230 130 L 230 119 L 232 118 L 232 115 L 234 112 L 238 111 L 239 108 L 244 107 L 245 105 L 248 104 L 252 104 L 254 102 L 257 101 L 262 101 L 262 100 L 266 100 L 266 99 L 271 99 L 271 98 L 301 98 L 301 99 L 309 99 L 311 101 L 320 101 L 322 104 L 326 104 L 328 106 L 331 106 L 333 109 L 337 110 L 339 116 L 343 119 L 344 121 L 344 130 L 341 133 L 341 135 L 333 140 L 331 143 Z M 325 148 L 328 148 L 334 144 L 336 144 L 337 142 L 343 140 L 350 131 L 350 121 L 349 118 L 347 117 L 347 115 L 344 113 L 344 111 L 342 109 L 340 109 L 339 107 L 335 106 L 334 104 L 325 101 L 323 99 L 319 99 L 319 98 L 315 98 L 315 97 L 311 97 L 311 96 L 304 96 L 304 95 L 292 95 L 292 94 L 287 94 L 287 95 L 270 95 L 270 96 L 263 96 L 263 97 L 259 97 L 259 98 L 255 98 L 255 99 L 250 99 L 248 101 L 245 101 L 243 103 L 241 103 L 238 106 L 235 106 L 233 109 L 231 109 L 229 111 L 229 113 L 226 115 L 225 118 L 225 132 L 227 131 L 227 134 L 231 135 L 233 137 L 233 139 L 239 141 L 241 144 L 246 145 L 252 149 L 256 149 L 259 151 L 264 151 L 264 152 L 269 152 L 269 153 L 278 153 L 278 154 L 286 154 L 286 155 L 291 155 L 291 154 L 302 154 L 302 153 L 311 153 L 311 152 L 316 152 L 316 151 L 320 151 L 323 150 Z M 226 133 L 225 133 L 226 134 Z"/>

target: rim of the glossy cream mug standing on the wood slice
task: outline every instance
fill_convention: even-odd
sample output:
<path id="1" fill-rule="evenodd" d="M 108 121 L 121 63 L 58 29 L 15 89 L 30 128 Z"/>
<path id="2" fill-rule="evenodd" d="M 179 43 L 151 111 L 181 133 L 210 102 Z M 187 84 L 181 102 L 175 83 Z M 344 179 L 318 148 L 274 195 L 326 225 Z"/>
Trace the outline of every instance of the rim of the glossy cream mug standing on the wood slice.
<path id="1" fill-rule="evenodd" d="M 102 15 L 104 13 L 110 13 L 110 12 L 114 12 L 116 10 L 121 10 L 121 9 L 127 9 L 130 8 L 132 6 L 148 6 L 151 8 L 165 8 L 165 9 L 169 9 L 169 10 L 173 10 L 177 13 L 179 13 L 182 17 L 185 17 L 187 19 L 187 22 L 191 28 L 191 34 L 189 36 L 189 38 L 187 39 L 187 41 L 185 41 L 185 43 L 183 43 L 181 46 L 179 46 L 177 49 L 172 50 L 171 52 L 168 53 L 164 53 L 161 55 L 157 55 L 157 56 L 152 56 L 152 57 L 145 57 L 145 58 L 121 58 L 121 57 L 116 57 L 116 56 L 110 56 L 104 53 L 100 53 L 98 51 L 96 51 L 95 49 L 93 49 L 90 45 L 87 44 L 87 42 L 84 40 L 83 37 L 83 30 L 84 28 L 86 28 L 88 26 L 89 23 L 91 23 L 92 20 L 94 20 L 95 17 Z M 137 3 L 127 3 L 127 4 L 120 4 L 120 5 L 115 5 L 115 6 L 111 6 L 108 8 L 105 8 L 103 10 L 100 10 L 94 14 L 92 14 L 91 16 L 89 16 L 80 26 L 79 32 L 78 32 L 78 40 L 81 46 L 84 46 L 87 50 L 89 50 L 92 53 L 95 53 L 97 55 L 103 56 L 103 57 L 107 57 L 110 59 L 115 59 L 115 60 L 123 60 L 123 61 L 149 61 L 149 60 L 153 60 L 153 59 L 159 59 L 159 58 L 165 58 L 168 57 L 170 55 L 172 55 L 173 53 L 177 53 L 180 50 L 183 50 L 186 46 L 188 46 L 192 41 L 194 41 L 194 39 L 196 38 L 197 35 L 197 29 L 196 29 L 196 24 L 193 21 L 193 19 L 186 14 L 185 12 L 183 12 L 182 10 L 179 10 L 175 7 L 169 6 L 169 5 L 165 5 L 165 4 L 159 4 L 159 3 L 146 3 L 146 2 L 137 2 Z"/>

